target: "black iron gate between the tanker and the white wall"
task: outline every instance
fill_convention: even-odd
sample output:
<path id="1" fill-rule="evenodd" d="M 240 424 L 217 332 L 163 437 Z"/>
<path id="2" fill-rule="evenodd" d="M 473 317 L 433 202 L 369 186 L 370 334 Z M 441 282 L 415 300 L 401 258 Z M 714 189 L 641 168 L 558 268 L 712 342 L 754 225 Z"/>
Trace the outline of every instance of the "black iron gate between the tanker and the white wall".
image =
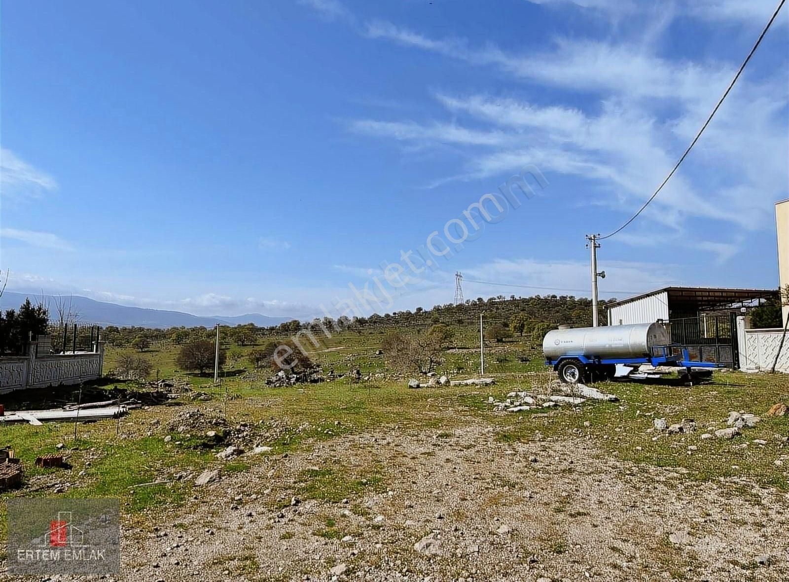
<path id="1" fill-rule="evenodd" d="M 670 319 L 666 326 L 671 342 L 686 346 L 690 360 L 739 367 L 735 313 Z"/>

